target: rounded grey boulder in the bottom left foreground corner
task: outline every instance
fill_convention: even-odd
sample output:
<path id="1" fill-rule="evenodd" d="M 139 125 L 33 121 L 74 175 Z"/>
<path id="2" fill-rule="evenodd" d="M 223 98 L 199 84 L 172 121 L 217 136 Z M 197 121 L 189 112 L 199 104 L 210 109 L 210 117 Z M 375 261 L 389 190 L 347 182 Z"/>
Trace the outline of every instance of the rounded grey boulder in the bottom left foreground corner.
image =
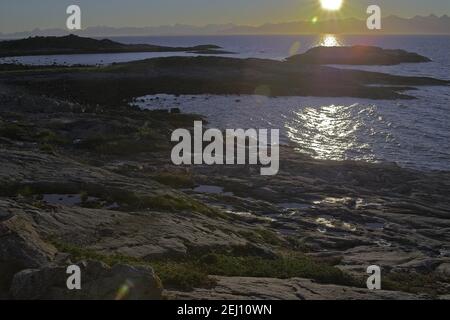
<path id="1" fill-rule="evenodd" d="M 89 300 L 155 300 L 161 299 L 160 280 L 149 267 L 115 265 L 110 268 L 97 261 L 83 261 L 81 290 L 69 290 L 65 267 L 27 269 L 12 281 L 14 299 L 89 299 Z"/>

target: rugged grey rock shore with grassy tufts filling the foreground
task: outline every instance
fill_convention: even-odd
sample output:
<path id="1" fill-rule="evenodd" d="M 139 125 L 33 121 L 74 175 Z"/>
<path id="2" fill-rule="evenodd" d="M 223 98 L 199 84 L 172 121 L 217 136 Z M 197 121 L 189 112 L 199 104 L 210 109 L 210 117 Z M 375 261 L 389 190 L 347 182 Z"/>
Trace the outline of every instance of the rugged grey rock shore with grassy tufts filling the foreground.
<path id="1" fill-rule="evenodd" d="M 127 279 L 131 299 L 450 298 L 448 172 L 291 146 L 270 178 L 180 168 L 170 133 L 198 117 L 131 108 L 112 88 L 70 99 L 59 72 L 1 77 L 0 298 L 80 298 L 61 284 L 71 263 L 89 299 L 117 298 Z M 383 291 L 365 289 L 373 264 Z"/>

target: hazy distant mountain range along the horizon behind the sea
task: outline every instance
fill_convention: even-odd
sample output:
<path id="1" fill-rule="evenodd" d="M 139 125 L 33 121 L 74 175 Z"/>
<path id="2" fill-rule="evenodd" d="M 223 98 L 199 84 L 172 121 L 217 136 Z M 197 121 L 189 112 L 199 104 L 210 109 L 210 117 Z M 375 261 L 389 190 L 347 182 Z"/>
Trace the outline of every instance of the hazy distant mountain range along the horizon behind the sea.
<path id="1" fill-rule="evenodd" d="M 284 23 L 267 23 L 260 26 L 245 26 L 235 24 L 218 24 L 206 26 L 191 26 L 176 24 L 159 27 L 125 27 L 114 28 L 106 26 L 89 27 L 77 32 L 65 29 L 35 29 L 29 32 L 3 34 L 0 38 L 25 38 L 30 36 L 63 36 L 75 33 L 79 36 L 156 36 L 156 35 L 242 35 L 242 34 L 450 34 L 450 17 L 443 15 L 415 16 L 401 18 L 388 16 L 382 20 L 382 30 L 368 30 L 366 21 L 356 18 L 340 20 L 295 21 Z"/>

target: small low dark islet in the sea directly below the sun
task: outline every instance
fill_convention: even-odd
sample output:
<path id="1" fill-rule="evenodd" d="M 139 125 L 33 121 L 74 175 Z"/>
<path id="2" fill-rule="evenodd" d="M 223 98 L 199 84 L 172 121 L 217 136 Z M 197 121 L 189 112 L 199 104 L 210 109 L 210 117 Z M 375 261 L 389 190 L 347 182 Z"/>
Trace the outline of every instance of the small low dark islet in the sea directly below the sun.
<path id="1" fill-rule="evenodd" d="M 315 47 L 287 59 L 300 64 L 396 65 L 430 62 L 427 57 L 405 50 L 389 50 L 372 46 Z"/>

